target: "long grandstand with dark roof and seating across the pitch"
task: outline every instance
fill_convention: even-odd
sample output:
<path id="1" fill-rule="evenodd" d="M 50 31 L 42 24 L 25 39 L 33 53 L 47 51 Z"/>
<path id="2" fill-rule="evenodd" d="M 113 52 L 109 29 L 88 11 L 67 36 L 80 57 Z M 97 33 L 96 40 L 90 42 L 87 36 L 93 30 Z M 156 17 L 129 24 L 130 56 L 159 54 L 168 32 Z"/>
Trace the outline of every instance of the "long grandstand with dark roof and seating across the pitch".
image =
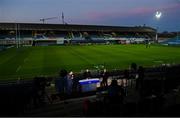
<path id="1" fill-rule="evenodd" d="M 156 29 L 146 26 L 0 23 L 0 44 L 140 43 L 153 40 L 155 33 Z"/>

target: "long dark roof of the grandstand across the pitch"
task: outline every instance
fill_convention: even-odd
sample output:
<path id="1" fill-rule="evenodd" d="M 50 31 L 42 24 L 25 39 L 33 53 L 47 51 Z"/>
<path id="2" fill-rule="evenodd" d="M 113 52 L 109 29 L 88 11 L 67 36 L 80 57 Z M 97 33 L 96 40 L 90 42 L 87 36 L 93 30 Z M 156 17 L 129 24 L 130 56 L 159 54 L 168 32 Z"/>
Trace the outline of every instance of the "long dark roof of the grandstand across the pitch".
<path id="1" fill-rule="evenodd" d="M 118 32 L 149 32 L 156 29 L 146 26 L 122 27 L 102 25 L 76 25 L 76 24 L 41 24 L 41 23 L 0 23 L 0 30 L 15 30 L 18 24 L 20 30 L 57 30 L 57 31 L 118 31 Z"/>

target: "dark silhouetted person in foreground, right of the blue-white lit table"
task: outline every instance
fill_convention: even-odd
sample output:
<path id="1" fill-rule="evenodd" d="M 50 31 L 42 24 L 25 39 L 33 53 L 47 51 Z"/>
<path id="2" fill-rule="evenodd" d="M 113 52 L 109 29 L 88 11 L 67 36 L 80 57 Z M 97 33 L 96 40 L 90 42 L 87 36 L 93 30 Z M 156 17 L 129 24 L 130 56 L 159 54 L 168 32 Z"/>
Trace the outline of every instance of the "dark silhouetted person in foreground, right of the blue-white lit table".
<path id="1" fill-rule="evenodd" d="M 110 103 L 123 103 L 124 91 L 121 86 L 117 84 L 117 80 L 112 80 L 111 85 L 108 86 L 108 98 Z"/>

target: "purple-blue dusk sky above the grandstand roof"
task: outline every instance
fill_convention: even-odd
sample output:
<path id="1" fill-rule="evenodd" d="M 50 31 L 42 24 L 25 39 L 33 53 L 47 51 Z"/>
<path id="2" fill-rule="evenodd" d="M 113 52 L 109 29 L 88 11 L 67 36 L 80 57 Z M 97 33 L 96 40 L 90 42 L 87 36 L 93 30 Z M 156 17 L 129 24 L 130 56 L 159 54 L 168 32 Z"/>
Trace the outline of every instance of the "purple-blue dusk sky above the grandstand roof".
<path id="1" fill-rule="evenodd" d="M 156 11 L 162 12 L 160 19 Z M 180 31 L 180 0 L 0 0 L 0 22 L 146 26 Z"/>

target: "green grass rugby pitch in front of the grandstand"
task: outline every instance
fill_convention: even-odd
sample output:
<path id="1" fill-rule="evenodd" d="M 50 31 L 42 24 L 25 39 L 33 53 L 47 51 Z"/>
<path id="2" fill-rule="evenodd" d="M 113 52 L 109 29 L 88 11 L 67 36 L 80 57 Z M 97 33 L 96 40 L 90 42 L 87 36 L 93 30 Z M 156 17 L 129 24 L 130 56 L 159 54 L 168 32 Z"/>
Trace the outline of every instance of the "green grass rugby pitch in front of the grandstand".
<path id="1" fill-rule="evenodd" d="M 62 68 L 75 72 L 96 69 L 97 65 L 125 69 L 132 62 L 143 66 L 180 63 L 180 47 L 89 45 L 11 48 L 0 52 L 0 80 L 56 76 Z"/>

